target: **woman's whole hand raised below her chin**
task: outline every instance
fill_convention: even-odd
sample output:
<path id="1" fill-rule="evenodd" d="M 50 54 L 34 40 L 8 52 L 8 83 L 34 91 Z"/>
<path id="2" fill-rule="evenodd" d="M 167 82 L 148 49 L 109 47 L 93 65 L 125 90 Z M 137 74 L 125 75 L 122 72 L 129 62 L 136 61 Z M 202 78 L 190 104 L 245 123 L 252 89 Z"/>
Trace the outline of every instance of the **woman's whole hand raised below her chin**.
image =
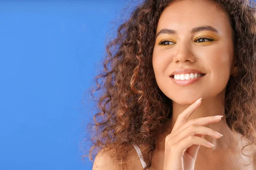
<path id="1" fill-rule="evenodd" d="M 222 136 L 220 133 L 204 127 L 204 125 L 219 122 L 222 116 L 208 116 L 187 121 L 195 109 L 201 105 L 201 99 L 180 113 L 172 132 L 166 136 L 163 170 L 194 170 L 199 147 L 201 145 L 209 148 L 213 146 L 203 138 L 204 135 L 216 139 Z"/>

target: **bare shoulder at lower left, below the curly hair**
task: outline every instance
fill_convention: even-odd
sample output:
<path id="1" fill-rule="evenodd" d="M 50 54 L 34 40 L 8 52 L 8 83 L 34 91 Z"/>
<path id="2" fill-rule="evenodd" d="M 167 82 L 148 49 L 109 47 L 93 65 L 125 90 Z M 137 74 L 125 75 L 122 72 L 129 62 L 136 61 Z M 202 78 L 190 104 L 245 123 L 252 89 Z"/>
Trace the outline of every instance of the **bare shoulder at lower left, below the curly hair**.
<path id="1" fill-rule="evenodd" d="M 117 170 L 117 166 L 111 157 L 112 150 L 100 150 L 95 156 L 93 170 Z"/>

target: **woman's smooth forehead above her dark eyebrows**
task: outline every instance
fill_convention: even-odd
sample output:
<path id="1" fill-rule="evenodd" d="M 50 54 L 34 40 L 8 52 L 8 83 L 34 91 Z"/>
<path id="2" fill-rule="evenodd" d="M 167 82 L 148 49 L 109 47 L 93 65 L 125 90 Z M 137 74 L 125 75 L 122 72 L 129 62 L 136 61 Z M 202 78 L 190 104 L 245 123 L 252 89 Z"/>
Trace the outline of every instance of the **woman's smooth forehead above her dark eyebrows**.
<path id="1" fill-rule="evenodd" d="M 209 0 L 175 0 L 161 14 L 157 32 L 172 28 L 179 33 L 206 25 L 218 29 L 220 33 L 232 31 L 227 14 Z"/>

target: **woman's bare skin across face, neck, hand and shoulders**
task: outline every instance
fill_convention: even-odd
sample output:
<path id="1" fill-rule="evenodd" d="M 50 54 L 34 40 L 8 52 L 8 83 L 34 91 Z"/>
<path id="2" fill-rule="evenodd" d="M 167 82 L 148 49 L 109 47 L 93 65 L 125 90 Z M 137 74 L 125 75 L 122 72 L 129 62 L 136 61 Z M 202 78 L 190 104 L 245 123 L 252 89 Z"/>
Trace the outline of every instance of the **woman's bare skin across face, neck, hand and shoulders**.
<path id="1" fill-rule="evenodd" d="M 211 26 L 218 33 L 192 32 L 201 26 Z M 149 170 L 253 170 L 251 160 L 241 154 L 241 134 L 228 127 L 225 117 L 226 85 L 236 70 L 229 17 L 209 0 L 177 0 L 164 9 L 156 34 L 162 29 L 176 33 L 157 36 L 152 64 L 158 87 L 173 101 L 172 120 L 165 133 L 157 136 Z M 169 77 L 177 68 L 193 68 L 206 75 L 191 85 L 178 86 Z M 142 170 L 132 149 L 133 153 L 127 153 L 131 160 L 128 166 L 131 170 Z M 255 153 L 253 148 L 247 150 L 248 153 L 245 150 L 243 153 Z M 108 151 L 100 151 L 93 170 L 115 170 L 110 155 Z"/>

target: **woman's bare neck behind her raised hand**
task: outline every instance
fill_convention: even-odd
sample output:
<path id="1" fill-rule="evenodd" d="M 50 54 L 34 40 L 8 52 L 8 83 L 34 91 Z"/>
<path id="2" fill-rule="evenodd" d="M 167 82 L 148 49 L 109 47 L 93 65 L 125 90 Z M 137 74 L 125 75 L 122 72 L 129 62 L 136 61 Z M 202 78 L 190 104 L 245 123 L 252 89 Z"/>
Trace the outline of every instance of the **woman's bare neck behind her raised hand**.
<path id="1" fill-rule="evenodd" d="M 172 120 L 169 123 L 169 127 L 166 130 L 166 133 L 160 136 L 159 142 L 157 145 L 159 149 L 163 149 L 165 146 L 165 137 L 172 132 L 172 129 L 175 125 L 177 117 L 182 113 L 189 105 L 179 105 L 176 102 L 173 102 L 172 110 Z M 205 127 L 211 128 L 212 130 L 221 133 L 223 136 L 220 139 L 215 139 L 211 136 L 204 135 L 204 139 L 214 144 L 212 151 L 217 150 L 218 148 L 230 147 L 231 142 L 234 142 L 234 133 L 228 127 L 225 117 L 225 108 L 224 108 L 224 95 L 219 95 L 215 98 L 204 98 L 202 99 L 201 105 L 192 113 L 192 115 L 187 119 L 197 119 L 207 116 L 222 115 L 223 117 L 217 123 L 212 123 L 205 125 Z M 205 148 L 207 150 L 207 148 Z M 204 150 L 204 149 L 202 149 Z M 209 150 L 209 149 L 208 149 Z"/>

